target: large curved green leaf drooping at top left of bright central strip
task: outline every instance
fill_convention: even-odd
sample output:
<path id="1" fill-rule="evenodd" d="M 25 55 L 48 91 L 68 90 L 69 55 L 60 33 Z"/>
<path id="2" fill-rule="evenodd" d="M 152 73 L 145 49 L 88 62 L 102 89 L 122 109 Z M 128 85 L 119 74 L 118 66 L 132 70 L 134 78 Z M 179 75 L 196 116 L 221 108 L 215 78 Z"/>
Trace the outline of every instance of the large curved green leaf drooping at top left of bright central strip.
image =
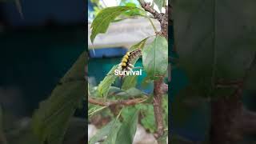
<path id="1" fill-rule="evenodd" d="M 126 12 L 127 10 L 134 9 L 138 8 L 132 6 L 113 6 L 101 10 L 91 24 L 92 33 L 90 35 L 90 41 L 94 42 L 94 38 L 97 36 L 97 34 L 106 33 L 106 30 L 110 26 L 110 22 L 114 21 L 114 19 L 120 14 Z"/>

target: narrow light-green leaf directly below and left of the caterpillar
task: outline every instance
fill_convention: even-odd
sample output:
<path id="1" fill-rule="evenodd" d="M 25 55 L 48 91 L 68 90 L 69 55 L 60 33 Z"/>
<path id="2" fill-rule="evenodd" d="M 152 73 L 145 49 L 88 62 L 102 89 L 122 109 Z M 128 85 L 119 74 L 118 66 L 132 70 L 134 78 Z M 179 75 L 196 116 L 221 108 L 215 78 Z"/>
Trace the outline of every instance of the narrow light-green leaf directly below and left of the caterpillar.
<path id="1" fill-rule="evenodd" d="M 115 79 L 118 78 L 118 75 L 114 74 L 114 70 L 117 70 L 117 69 L 118 69 L 118 65 L 113 66 L 110 72 L 98 85 L 98 93 L 104 98 L 108 94 L 110 90 L 110 86 L 113 84 Z"/>

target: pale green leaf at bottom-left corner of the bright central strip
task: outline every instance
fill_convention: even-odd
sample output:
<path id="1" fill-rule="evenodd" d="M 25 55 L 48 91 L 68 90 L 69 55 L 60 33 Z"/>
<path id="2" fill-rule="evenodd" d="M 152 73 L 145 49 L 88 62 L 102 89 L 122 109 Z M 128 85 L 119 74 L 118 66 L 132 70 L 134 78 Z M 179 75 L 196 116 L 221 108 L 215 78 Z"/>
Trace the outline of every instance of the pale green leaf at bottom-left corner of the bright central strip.
<path id="1" fill-rule="evenodd" d="M 90 138 L 89 144 L 95 144 L 96 142 L 102 140 L 105 137 L 105 143 L 114 143 L 116 134 L 118 133 L 120 126 L 121 123 L 117 119 L 114 119 L 106 126 L 102 127 L 102 129 L 98 130 L 98 132 L 92 138 Z"/>

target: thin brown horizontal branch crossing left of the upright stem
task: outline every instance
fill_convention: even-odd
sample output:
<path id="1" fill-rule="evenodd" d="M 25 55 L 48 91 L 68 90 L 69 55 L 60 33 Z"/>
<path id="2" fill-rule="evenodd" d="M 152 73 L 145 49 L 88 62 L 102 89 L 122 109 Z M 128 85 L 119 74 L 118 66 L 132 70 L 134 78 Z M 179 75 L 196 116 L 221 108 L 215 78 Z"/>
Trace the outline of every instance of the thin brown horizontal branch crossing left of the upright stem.
<path id="1" fill-rule="evenodd" d="M 88 102 L 98 106 L 114 106 L 114 105 L 132 106 L 138 103 L 145 102 L 146 99 L 147 98 L 134 98 L 134 99 L 128 99 L 128 100 L 106 101 L 105 99 L 88 97 Z"/>

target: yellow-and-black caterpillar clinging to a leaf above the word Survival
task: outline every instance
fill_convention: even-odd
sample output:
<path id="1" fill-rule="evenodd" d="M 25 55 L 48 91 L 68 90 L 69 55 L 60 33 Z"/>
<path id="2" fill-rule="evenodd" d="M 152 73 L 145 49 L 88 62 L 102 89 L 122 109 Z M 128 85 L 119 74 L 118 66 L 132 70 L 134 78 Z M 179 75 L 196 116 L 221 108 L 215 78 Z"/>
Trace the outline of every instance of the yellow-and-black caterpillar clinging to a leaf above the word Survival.
<path id="1" fill-rule="evenodd" d="M 132 70 L 134 65 L 132 64 L 134 60 L 137 60 L 142 55 L 142 50 L 136 49 L 127 52 L 123 57 L 122 61 L 118 64 L 119 70 Z"/>

